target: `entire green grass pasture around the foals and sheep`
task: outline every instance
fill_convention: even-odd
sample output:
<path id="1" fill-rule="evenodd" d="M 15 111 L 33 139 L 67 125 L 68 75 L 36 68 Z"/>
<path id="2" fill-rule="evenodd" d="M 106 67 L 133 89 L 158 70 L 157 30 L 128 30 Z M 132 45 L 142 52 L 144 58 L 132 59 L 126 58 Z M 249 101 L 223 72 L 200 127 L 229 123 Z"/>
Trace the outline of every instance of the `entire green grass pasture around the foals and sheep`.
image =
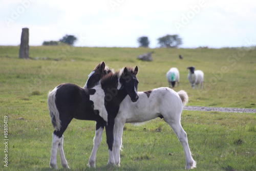
<path id="1" fill-rule="evenodd" d="M 189 95 L 187 105 L 255 109 L 255 48 L 145 49 L 30 47 L 30 57 L 18 59 L 19 47 L 0 47 L 0 117 L 2 143 L 0 170 L 52 170 L 49 168 L 53 128 L 47 94 L 62 82 L 83 87 L 88 74 L 100 62 L 114 69 L 139 67 L 139 91 L 167 87 L 165 73 L 180 71 L 180 87 Z M 153 61 L 136 57 L 153 53 Z M 184 59 L 180 60 L 181 54 Z M 204 71 L 204 89 L 192 90 L 186 67 Z M 4 152 L 4 117 L 8 117 L 8 153 Z M 183 111 L 182 126 L 196 170 L 255 170 L 256 116 L 246 113 Z M 145 129 L 144 129 L 145 128 Z M 125 125 L 121 167 L 106 166 L 108 147 L 103 135 L 96 169 L 86 166 L 95 123 L 73 120 L 65 132 L 64 149 L 71 170 L 182 170 L 185 157 L 181 144 L 161 119 L 139 126 Z M 160 130 L 160 131 L 159 131 Z M 8 168 L 4 157 L 8 154 Z M 58 157 L 58 166 L 61 168 Z M 60 169 L 63 170 L 63 169 Z"/>

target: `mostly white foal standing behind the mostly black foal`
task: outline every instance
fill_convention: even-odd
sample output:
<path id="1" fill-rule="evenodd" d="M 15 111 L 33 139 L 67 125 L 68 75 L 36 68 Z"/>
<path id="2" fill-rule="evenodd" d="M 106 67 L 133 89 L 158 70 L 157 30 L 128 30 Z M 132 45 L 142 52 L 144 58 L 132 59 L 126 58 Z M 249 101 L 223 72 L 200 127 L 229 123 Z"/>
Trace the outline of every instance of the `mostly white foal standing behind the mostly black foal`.
<path id="1" fill-rule="evenodd" d="M 101 71 L 102 73 L 102 71 Z M 99 77 L 90 74 L 88 82 L 99 81 Z M 87 86 L 93 87 L 92 84 Z M 186 169 L 196 167 L 196 161 L 191 156 L 188 146 L 187 134 L 183 130 L 180 120 L 183 106 L 188 102 L 187 93 L 183 90 L 175 92 L 169 88 L 158 88 L 144 92 L 138 92 L 139 99 L 132 103 L 126 96 L 119 106 L 119 111 L 115 117 L 114 126 L 114 157 L 116 165 L 120 164 L 120 147 L 122 144 L 123 126 L 125 123 L 145 122 L 157 117 L 163 118 L 164 121 L 172 127 L 181 142 L 186 159 Z M 103 129 L 96 130 L 94 137 L 94 147 L 89 161 L 95 161 L 97 148 L 101 141 Z M 90 166 L 95 167 L 91 162 Z"/>

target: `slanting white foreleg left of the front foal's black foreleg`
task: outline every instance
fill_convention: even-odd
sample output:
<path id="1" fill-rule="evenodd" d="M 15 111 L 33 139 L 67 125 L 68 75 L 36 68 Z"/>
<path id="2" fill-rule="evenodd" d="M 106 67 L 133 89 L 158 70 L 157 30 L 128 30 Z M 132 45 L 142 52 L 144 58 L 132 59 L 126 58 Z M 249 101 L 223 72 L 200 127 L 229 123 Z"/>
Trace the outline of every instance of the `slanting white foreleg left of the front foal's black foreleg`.
<path id="1" fill-rule="evenodd" d="M 94 136 L 94 143 L 93 143 L 93 151 L 89 159 L 88 166 L 89 167 L 95 167 L 95 159 L 96 159 L 96 153 L 99 147 L 99 144 L 101 142 L 102 133 L 104 130 L 104 124 L 96 122 L 96 131 Z"/>

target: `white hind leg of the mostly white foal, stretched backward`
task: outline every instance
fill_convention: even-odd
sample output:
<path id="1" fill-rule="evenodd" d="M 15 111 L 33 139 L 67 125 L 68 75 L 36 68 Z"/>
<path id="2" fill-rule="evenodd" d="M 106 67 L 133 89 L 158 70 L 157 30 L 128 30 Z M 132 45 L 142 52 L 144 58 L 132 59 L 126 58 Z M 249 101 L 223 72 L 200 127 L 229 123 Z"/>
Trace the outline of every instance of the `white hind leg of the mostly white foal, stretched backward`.
<path id="1" fill-rule="evenodd" d="M 166 120 L 165 120 L 166 121 Z M 183 130 L 180 121 L 172 121 L 172 122 L 168 122 L 166 121 L 174 130 L 175 134 L 177 135 L 179 141 L 181 142 L 183 149 L 184 149 L 184 153 L 185 153 L 185 158 L 186 158 L 186 169 L 190 169 L 190 168 L 194 168 L 196 167 L 197 162 L 193 159 L 193 157 L 191 156 L 191 152 L 188 146 L 188 142 L 187 142 L 187 134 L 186 132 Z"/>

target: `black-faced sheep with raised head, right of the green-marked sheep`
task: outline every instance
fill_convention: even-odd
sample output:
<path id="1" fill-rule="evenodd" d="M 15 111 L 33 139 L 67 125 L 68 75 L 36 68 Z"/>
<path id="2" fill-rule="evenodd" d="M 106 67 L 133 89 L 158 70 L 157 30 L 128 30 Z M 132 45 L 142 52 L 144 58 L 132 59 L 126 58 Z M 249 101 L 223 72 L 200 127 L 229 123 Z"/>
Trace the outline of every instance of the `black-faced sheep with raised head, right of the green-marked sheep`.
<path id="1" fill-rule="evenodd" d="M 204 73 L 201 70 L 196 70 L 195 67 L 187 67 L 189 70 L 189 73 L 187 75 L 187 79 L 190 82 L 192 89 L 194 89 L 194 86 L 198 85 L 201 83 L 201 89 L 203 88 L 203 82 L 204 82 Z"/>

